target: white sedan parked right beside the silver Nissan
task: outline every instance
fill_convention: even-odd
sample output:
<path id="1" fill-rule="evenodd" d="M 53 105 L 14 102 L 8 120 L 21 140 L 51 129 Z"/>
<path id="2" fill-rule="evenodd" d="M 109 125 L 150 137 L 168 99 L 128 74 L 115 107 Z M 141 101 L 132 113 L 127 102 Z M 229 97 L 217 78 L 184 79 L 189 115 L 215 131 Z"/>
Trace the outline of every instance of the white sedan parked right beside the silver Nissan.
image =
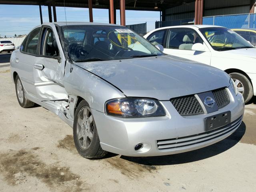
<path id="1" fill-rule="evenodd" d="M 227 72 L 248 102 L 256 96 L 256 48 L 221 26 L 189 25 L 155 29 L 144 36 L 163 52 L 214 66 Z"/>

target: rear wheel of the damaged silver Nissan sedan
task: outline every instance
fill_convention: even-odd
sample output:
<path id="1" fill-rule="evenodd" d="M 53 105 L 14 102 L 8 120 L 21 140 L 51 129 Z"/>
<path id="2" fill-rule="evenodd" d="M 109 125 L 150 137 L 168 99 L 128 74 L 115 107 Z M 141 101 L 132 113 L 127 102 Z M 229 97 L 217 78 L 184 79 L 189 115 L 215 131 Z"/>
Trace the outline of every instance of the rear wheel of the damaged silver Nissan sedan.
<path id="1" fill-rule="evenodd" d="M 28 108 L 34 106 L 34 102 L 28 100 L 25 94 L 24 87 L 20 81 L 19 76 L 17 75 L 15 78 L 15 90 L 18 102 L 22 108 Z"/>

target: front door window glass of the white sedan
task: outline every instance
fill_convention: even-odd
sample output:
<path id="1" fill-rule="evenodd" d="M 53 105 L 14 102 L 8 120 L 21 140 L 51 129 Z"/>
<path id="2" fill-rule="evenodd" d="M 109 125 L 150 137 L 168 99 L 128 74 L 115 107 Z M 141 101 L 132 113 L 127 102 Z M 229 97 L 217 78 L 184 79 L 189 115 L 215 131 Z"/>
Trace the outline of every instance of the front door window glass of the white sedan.
<path id="1" fill-rule="evenodd" d="M 166 48 L 192 50 L 195 43 L 202 43 L 196 32 L 190 29 L 170 29 L 167 36 Z"/>

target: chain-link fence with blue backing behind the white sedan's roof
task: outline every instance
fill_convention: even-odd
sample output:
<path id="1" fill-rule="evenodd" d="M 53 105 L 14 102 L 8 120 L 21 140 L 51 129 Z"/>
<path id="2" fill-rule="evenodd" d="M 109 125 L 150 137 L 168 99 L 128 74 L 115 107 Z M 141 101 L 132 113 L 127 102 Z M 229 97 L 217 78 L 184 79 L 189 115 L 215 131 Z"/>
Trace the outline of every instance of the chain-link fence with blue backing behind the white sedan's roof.
<path id="1" fill-rule="evenodd" d="M 156 21 L 156 28 L 194 24 L 194 18 L 171 21 Z M 237 14 L 203 17 L 204 25 L 218 25 L 227 28 L 256 28 L 256 14 Z"/>

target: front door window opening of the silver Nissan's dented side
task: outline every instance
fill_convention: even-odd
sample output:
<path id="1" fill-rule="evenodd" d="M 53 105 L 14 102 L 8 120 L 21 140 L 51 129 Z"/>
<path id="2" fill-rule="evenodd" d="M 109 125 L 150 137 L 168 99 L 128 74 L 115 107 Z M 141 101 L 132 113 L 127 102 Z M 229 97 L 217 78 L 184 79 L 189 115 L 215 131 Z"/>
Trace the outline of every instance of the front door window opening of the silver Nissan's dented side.
<path id="1" fill-rule="evenodd" d="M 43 55 L 45 56 L 58 56 L 59 50 L 57 46 L 57 42 L 52 32 L 52 29 L 46 28 L 45 29 L 45 39 L 44 39 L 44 46 L 43 46 Z"/>

